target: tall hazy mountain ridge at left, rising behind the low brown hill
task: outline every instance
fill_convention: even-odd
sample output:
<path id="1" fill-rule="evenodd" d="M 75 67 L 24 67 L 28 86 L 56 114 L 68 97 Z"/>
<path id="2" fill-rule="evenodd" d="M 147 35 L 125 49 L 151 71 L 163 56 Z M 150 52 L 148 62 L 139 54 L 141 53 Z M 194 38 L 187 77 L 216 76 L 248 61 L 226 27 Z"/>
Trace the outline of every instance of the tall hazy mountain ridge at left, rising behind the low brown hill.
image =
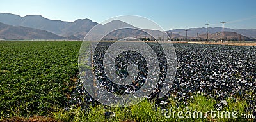
<path id="1" fill-rule="evenodd" d="M 31 27 L 34 29 L 47 30 L 61 36 L 76 36 L 83 38 L 87 32 L 97 25 L 92 20 L 76 20 L 74 22 L 65 22 L 61 20 L 49 20 L 41 15 L 28 15 L 20 17 L 10 13 L 0 13 L 0 22 L 13 26 Z"/>

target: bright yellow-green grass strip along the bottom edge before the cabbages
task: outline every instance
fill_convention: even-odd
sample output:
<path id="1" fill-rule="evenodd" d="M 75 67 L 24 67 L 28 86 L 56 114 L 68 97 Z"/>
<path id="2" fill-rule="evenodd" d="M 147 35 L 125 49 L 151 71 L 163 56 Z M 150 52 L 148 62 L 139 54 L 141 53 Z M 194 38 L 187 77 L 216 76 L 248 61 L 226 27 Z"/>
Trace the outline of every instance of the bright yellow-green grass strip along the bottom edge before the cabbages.
<path id="1" fill-rule="evenodd" d="M 148 100 L 143 100 L 139 104 L 132 105 L 131 107 L 107 107 L 104 105 L 91 105 L 88 111 L 84 111 L 81 107 L 77 107 L 76 109 L 71 109 L 69 111 L 59 111 L 54 112 L 53 117 L 58 121 L 253 121 L 253 119 L 239 119 L 239 118 L 211 118 L 210 113 L 207 111 L 216 111 L 215 104 L 217 103 L 216 100 L 212 98 L 204 97 L 203 95 L 195 95 L 196 97 L 189 102 L 188 105 L 180 105 L 176 107 L 175 104 L 178 102 L 175 100 L 170 99 L 172 104 L 167 106 L 167 110 L 172 108 L 172 112 L 175 112 L 174 118 L 171 116 L 166 118 L 164 116 L 164 109 L 160 107 L 157 108 L 154 105 L 154 102 L 149 102 Z M 235 101 L 232 98 L 227 98 L 228 105 L 227 107 L 223 107 L 222 111 L 237 111 L 237 117 L 241 114 L 252 114 L 250 112 L 244 112 L 244 107 L 248 107 L 246 104 L 246 100 L 239 100 Z M 115 112 L 115 116 L 113 117 L 106 117 L 104 116 L 104 112 Z M 179 118 L 177 116 L 177 112 L 182 111 L 182 116 L 184 118 Z M 190 111 L 192 114 L 191 118 L 186 118 L 185 113 Z M 194 111 L 201 111 L 202 118 L 193 118 Z M 205 116 L 204 113 L 207 113 Z M 167 116 L 169 113 L 166 114 Z"/>

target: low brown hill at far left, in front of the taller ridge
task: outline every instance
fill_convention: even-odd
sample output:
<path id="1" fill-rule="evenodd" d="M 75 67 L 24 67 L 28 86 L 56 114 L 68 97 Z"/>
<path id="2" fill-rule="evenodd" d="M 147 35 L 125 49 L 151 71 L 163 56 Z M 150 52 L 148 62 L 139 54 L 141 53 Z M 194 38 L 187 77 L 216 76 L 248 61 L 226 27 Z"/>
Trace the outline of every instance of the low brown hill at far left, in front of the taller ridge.
<path id="1" fill-rule="evenodd" d="M 6 25 L 0 22 L 0 39 L 67 39 L 45 30 Z"/>

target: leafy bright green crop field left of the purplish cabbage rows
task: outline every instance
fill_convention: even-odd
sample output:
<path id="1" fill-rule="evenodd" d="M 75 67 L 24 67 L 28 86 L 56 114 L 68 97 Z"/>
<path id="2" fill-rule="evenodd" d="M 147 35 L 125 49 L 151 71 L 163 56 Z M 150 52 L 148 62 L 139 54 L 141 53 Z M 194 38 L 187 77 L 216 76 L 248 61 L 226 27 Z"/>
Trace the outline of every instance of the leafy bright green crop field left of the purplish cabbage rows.
<path id="1" fill-rule="evenodd" d="M 47 115 L 67 104 L 79 41 L 0 41 L 1 116 Z"/>

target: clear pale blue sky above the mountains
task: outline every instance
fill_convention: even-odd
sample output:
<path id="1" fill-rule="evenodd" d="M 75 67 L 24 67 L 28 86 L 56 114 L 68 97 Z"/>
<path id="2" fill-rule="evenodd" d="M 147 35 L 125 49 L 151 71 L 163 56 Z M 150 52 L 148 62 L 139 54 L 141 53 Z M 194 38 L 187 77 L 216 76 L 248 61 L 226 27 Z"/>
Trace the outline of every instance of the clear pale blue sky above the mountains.
<path id="1" fill-rule="evenodd" d="M 118 15 L 150 18 L 164 30 L 192 27 L 256 29 L 255 0 L 1 0 L 0 13 L 42 15 L 51 20 L 89 18 L 102 22 Z"/>

